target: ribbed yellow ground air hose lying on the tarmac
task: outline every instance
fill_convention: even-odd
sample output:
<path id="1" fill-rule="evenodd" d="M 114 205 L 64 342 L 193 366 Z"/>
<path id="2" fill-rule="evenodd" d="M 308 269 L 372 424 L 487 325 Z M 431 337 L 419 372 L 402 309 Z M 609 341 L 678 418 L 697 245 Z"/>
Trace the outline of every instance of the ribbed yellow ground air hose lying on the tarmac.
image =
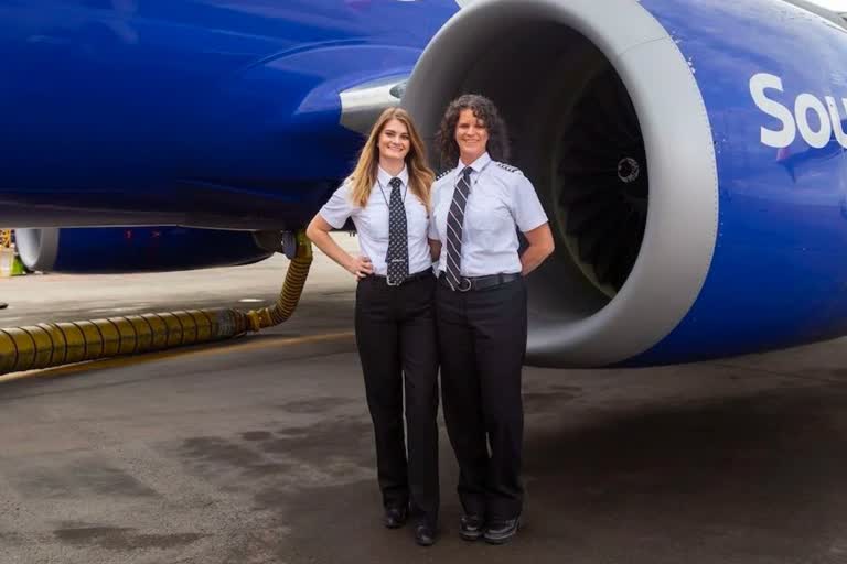
<path id="1" fill-rule="evenodd" d="M 271 307 L 150 313 L 0 329 L 0 375 L 223 340 L 278 325 L 294 312 L 311 264 L 311 242 L 299 231 L 294 258 Z"/>

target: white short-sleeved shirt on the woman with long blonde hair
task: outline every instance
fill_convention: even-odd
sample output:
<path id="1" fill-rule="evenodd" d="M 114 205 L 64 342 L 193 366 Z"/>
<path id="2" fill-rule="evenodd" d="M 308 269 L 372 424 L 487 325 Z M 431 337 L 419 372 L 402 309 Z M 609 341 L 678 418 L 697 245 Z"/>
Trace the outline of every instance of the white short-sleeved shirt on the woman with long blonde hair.
<path id="1" fill-rule="evenodd" d="M 353 204 L 351 196 L 353 185 L 344 182 L 321 208 L 321 217 L 335 229 L 341 229 L 347 218 L 358 232 L 358 247 L 363 256 L 371 259 L 374 273 L 387 275 L 388 268 L 385 257 L 388 253 L 388 203 L 392 199 L 392 187 L 388 182 L 393 178 L 382 166 L 377 171 L 377 180 L 371 189 L 371 197 L 365 207 Z M 427 240 L 429 217 L 426 206 L 409 189 L 409 173 L 406 167 L 397 175 L 403 182 L 400 194 L 406 208 L 406 225 L 409 240 L 409 274 L 417 274 L 432 268 Z"/>

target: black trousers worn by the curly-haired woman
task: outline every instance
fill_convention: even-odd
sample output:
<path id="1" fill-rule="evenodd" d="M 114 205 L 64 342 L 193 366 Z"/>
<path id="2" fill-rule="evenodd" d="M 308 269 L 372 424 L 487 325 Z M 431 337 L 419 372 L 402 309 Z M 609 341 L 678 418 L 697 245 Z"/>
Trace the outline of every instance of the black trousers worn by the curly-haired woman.
<path id="1" fill-rule="evenodd" d="M 436 295 L 441 394 L 459 462 L 459 497 L 468 513 L 512 519 L 524 495 L 526 282 L 465 293 L 439 282 Z"/>

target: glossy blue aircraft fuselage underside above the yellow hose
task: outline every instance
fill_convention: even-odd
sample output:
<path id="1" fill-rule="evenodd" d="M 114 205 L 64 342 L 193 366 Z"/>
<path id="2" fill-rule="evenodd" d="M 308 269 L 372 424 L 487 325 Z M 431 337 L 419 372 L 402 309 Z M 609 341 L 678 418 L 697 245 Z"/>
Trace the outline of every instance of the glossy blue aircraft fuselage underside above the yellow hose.
<path id="1" fill-rule="evenodd" d="M 453 0 L 0 1 L 4 225 L 292 228 Z"/>

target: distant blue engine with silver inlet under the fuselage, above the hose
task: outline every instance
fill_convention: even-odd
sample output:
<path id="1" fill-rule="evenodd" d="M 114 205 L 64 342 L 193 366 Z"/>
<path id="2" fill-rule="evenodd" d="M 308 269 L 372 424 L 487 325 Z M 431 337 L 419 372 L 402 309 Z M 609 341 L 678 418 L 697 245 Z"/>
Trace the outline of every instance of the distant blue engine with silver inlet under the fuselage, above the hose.
<path id="1" fill-rule="evenodd" d="M 30 270 L 78 274 L 234 267 L 272 254 L 251 232 L 184 227 L 15 229 Z"/>

